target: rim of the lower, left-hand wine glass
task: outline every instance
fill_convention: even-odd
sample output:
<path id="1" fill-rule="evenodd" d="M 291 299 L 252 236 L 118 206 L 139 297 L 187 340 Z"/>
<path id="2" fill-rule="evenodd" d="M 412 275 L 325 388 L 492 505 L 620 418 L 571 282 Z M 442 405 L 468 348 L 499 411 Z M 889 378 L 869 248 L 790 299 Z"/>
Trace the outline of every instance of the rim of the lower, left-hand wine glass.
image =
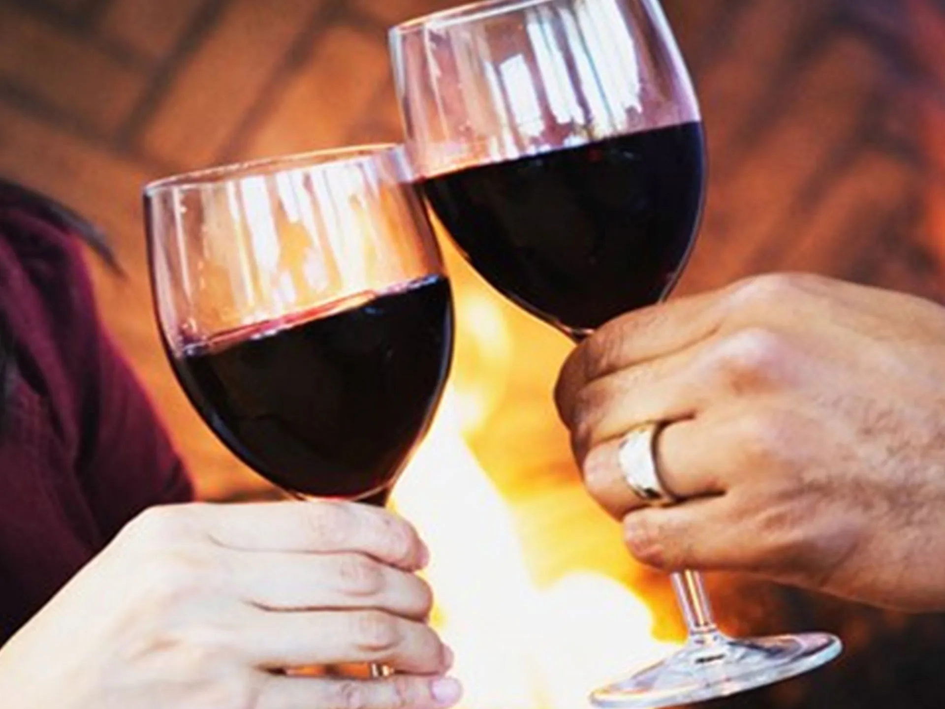
<path id="1" fill-rule="evenodd" d="M 150 195 L 165 189 L 199 188 L 206 185 L 240 180 L 245 177 L 272 175 L 277 172 L 293 172 L 309 168 L 337 166 L 376 159 L 380 155 L 402 154 L 401 143 L 367 143 L 342 148 L 325 148 L 304 153 L 276 155 L 255 160 L 242 160 L 213 167 L 162 177 L 145 185 L 145 194 Z"/>

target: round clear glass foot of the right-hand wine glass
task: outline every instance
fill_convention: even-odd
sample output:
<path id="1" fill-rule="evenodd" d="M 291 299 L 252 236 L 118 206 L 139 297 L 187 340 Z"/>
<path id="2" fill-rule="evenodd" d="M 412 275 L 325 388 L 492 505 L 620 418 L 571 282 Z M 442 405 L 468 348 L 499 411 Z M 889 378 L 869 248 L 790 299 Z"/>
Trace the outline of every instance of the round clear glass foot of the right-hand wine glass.
<path id="1" fill-rule="evenodd" d="M 820 667 L 843 646 L 829 633 L 733 640 L 721 633 L 690 640 L 661 662 L 591 694 L 595 706 L 659 709 L 781 682 Z"/>

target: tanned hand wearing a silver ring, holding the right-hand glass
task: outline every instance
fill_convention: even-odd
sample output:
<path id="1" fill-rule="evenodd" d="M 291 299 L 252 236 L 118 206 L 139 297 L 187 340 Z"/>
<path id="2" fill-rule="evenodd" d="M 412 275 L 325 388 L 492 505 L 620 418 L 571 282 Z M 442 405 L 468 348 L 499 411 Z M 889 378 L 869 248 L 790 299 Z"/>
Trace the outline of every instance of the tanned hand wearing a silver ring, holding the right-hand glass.
<path id="1" fill-rule="evenodd" d="M 753 572 L 909 610 L 945 608 L 945 310 L 777 275 L 631 312 L 558 381 L 585 483 L 630 551 L 667 570 Z M 648 508 L 617 466 L 656 440 Z"/>

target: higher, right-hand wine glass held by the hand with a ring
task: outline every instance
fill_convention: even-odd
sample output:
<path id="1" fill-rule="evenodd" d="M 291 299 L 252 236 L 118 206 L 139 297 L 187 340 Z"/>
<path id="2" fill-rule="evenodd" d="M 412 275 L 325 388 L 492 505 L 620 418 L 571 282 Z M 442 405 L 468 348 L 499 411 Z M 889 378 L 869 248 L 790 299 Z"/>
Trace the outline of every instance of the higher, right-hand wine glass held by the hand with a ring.
<path id="1" fill-rule="evenodd" d="M 390 43 L 421 192 L 492 286 L 575 341 L 668 295 L 706 170 L 696 93 L 657 0 L 492 0 L 398 25 Z M 686 644 L 593 703 L 726 696 L 841 649 L 827 633 L 730 639 L 700 576 L 672 579 Z"/>

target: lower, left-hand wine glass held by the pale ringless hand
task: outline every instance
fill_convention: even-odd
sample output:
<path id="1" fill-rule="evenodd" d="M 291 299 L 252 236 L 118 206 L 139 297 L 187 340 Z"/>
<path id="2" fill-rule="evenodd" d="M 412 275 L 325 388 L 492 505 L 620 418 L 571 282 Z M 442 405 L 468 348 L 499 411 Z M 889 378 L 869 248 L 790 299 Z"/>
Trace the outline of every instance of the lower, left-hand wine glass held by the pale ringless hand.
<path id="1" fill-rule="evenodd" d="M 170 177 L 145 206 L 163 345 L 203 420 L 294 497 L 383 505 L 453 353 L 450 284 L 403 149 Z"/>

